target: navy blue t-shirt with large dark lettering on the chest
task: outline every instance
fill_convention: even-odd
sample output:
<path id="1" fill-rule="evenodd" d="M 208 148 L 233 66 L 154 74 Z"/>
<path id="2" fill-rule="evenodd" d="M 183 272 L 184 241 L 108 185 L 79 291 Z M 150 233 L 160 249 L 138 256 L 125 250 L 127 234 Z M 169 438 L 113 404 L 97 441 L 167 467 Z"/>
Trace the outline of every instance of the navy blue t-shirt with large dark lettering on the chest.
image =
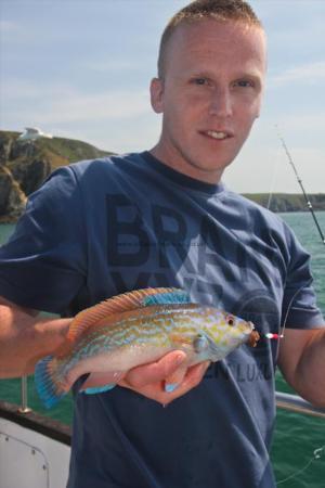
<path id="1" fill-rule="evenodd" d="M 72 316 L 148 286 L 186 290 L 260 332 L 323 325 L 309 255 L 272 213 L 148 152 L 55 171 L 0 249 L 0 295 Z M 76 395 L 68 488 L 271 488 L 277 344 L 212 364 L 167 408 Z"/>

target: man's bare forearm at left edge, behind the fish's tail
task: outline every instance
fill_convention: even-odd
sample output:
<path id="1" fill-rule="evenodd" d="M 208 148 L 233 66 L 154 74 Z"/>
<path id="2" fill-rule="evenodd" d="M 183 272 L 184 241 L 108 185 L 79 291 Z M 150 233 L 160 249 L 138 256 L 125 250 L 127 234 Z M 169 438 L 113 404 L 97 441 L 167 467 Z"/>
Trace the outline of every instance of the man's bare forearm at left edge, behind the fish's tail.
<path id="1" fill-rule="evenodd" d="M 0 304 L 0 378 L 34 372 L 36 362 L 65 342 L 72 319 L 40 319 Z"/>

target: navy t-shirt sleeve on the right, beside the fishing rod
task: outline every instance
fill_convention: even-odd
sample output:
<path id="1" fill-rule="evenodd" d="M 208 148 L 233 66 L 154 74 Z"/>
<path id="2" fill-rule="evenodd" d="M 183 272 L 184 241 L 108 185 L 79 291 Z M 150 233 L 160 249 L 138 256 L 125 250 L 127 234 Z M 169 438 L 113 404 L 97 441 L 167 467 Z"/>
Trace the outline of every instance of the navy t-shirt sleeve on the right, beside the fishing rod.
<path id="1" fill-rule="evenodd" d="M 282 324 L 289 329 L 316 329 L 325 320 L 316 305 L 309 253 L 287 228 L 289 265 L 284 288 Z"/>

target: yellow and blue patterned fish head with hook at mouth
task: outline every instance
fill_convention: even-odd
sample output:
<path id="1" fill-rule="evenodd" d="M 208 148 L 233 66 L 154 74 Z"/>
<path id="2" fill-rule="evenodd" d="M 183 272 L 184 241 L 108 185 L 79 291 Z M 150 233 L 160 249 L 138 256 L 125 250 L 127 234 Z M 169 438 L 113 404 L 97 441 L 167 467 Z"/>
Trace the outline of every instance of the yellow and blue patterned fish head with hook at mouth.
<path id="1" fill-rule="evenodd" d="M 255 347 L 259 341 L 251 322 L 212 307 L 203 307 L 202 316 L 202 328 L 193 341 L 193 347 L 206 359 L 223 359 L 242 344 Z"/>

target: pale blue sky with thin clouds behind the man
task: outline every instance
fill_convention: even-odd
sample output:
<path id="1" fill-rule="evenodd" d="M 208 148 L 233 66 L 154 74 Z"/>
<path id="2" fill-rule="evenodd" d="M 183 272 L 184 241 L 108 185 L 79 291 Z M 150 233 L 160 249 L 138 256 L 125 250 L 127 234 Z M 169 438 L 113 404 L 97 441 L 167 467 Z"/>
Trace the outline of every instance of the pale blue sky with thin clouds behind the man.
<path id="1" fill-rule="evenodd" d="M 159 37 L 181 0 L 0 0 L 0 129 L 151 149 Z M 268 34 L 260 118 L 225 171 L 237 192 L 325 192 L 325 0 L 251 0 Z M 277 129 L 276 127 L 277 126 Z"/>

